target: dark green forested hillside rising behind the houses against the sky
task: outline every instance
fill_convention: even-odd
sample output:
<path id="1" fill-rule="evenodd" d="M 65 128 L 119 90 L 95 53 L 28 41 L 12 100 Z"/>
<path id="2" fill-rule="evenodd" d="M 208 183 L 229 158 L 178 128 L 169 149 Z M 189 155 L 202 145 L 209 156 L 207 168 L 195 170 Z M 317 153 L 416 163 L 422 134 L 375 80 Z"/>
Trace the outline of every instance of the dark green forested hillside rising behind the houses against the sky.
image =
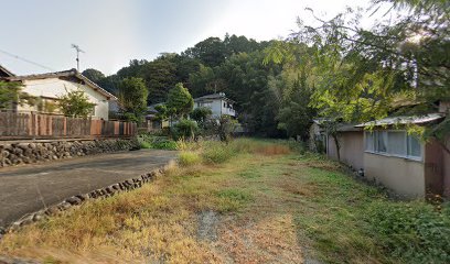
<path id="1" fill-rule="evenodd" d="M 129 66 L 111 76 L 96 69 L 86 69 L 83 74 L 113 94 L 117 94 L 121 79 L 142 78 L 149 90 L 149 105 L 165 101 L 169 90 L 178 82 L 183 82 L 193 97 L 225 92 L 237 102 L 235 108 L 239 120 L 250 130 L 261 135 L 286 136 L 286 125 L 279 124 L 277 119 L 277 116 L 280 120 L 283 118 L 279 91 L 286 86 L 290 90 L 300 90 L 300 81 L 299 75 L 283 73 L 282 64 L 264 64 L 265 50 L 270 44 L 272 42 L 256 42 L 236 35 L 225 35 L 223 40 L 208 37 L 181 54 L 163 53 L 153 61 L 132 59 Z M 292 96 L 301 97 L 300 94 Z M 297 106 L 301 108 L 299 114 L 308 105 L 308 98 L 304 99 L 302 106 Z M 289 134 L 304 131 L 306 127 L 299 125 L 288 125 Z"/>

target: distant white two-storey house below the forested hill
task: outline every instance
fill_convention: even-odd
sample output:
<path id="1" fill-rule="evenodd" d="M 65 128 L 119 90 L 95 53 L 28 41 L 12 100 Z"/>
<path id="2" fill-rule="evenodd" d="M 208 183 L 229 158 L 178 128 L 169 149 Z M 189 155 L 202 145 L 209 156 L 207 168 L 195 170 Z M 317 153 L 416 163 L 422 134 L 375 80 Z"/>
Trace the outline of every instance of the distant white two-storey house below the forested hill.
<path id="1" fill-rule="evenodd" d="M 235 101 L 227 98 L 224 92 L 207 95 L 194 99 L 194 109 L 200 107 L 210 108 L 213 118 L 229 116 L 236 118 L 236 111 L 233 109 Z"/>

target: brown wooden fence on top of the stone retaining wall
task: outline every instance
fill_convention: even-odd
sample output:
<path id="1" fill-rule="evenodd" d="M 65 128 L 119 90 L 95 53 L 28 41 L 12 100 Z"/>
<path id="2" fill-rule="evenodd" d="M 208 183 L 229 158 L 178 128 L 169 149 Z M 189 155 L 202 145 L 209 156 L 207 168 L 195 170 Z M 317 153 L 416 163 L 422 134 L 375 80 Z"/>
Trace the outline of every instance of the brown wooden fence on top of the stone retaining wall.
<path id="1" fill-rule="evenodd" d="M 0 140 L 127 138 L 135 135 L 136 132 L 136 123 L 129 122 L 0 112 Z"/>

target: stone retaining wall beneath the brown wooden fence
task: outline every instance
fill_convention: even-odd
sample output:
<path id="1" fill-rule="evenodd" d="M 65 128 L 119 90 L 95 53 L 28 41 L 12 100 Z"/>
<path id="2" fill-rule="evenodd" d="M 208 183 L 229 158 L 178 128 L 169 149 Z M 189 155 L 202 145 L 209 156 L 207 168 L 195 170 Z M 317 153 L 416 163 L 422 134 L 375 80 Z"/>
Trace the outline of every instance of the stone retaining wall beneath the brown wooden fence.
<path id="1" fill-rule="evenodd" d="M 139 143 L 136 140 L 125 139 L 0 142 L 0 168 L 138 148 Z"/>

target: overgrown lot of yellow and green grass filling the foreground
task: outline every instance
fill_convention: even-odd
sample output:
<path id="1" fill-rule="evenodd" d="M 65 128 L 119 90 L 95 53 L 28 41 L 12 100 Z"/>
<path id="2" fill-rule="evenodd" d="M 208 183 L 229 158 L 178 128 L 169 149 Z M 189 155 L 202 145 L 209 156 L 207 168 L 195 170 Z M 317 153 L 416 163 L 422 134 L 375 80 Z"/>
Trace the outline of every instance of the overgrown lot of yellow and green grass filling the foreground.
<path id="1" fill-rule="evenodd" d="M 389 200 L 286 142 L 181 148 L 180 166 L 152 184 L 9 234 L 0 252 L 47 263 L 450 262 L 448 206 Z"/>

